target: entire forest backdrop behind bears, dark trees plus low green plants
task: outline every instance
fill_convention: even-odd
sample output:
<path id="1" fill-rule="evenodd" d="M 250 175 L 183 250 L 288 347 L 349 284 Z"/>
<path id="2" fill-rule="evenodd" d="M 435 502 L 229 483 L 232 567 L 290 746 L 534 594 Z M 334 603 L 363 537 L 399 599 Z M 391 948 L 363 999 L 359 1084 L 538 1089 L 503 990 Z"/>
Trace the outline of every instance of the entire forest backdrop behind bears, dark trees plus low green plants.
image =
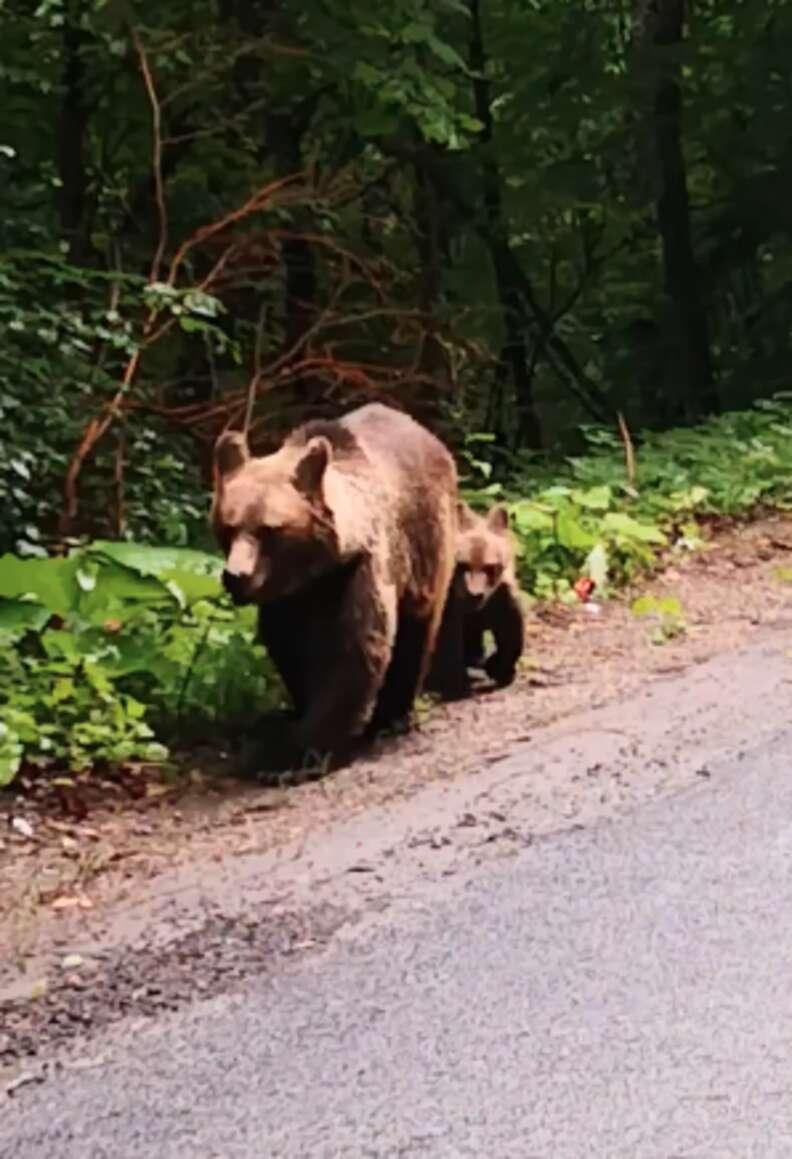
<path id="1" fill-rule="evenodd" d="M 574 598 L 792 498 L 792 5 L 0 0 L 0 782 L 279 686 L 211 445 L 378 399 Z"/>

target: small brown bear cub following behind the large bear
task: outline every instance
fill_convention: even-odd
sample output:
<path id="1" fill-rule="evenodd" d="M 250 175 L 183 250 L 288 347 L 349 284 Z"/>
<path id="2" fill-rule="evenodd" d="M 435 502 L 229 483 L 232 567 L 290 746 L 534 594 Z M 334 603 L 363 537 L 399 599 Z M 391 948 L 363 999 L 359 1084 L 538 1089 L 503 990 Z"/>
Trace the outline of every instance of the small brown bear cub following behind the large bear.
<path id="1" fill-rule="evenodd" d="M 508 510 L 497 504 L 480 516 L 459 502 L 457 520 L 457 566 L 427 679 L 445 699 L 470 694 L 471 668 L 499 687 L 511 684 L 525 643 Z M 485 658 L 486 632 L 495 649 Z"/>

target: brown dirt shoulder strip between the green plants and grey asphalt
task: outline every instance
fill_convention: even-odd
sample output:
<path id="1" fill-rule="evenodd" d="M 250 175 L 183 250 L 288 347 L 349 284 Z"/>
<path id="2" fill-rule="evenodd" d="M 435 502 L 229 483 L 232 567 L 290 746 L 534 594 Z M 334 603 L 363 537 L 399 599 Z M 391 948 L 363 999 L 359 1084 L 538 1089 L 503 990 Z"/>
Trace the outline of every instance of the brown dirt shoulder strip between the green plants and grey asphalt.
<path id="1" fill-rule="evenodd" d="M 544 610 L 513 688 L 438 708 L 320 782 L 196 767 L 172 794 L 118 794 L 81 819 L 8 799 L 32 837 L 0 831 L 0 1062 L 319 946 L 410 874 L 706 777 L 724 738 L 757 719 L 772 729 L 789 701 L 790 567 L 791 520 L 719 534 L 645 585 L 682 604 L 686 630 L 662 646 L 630 612 L 634 592 Z"/>

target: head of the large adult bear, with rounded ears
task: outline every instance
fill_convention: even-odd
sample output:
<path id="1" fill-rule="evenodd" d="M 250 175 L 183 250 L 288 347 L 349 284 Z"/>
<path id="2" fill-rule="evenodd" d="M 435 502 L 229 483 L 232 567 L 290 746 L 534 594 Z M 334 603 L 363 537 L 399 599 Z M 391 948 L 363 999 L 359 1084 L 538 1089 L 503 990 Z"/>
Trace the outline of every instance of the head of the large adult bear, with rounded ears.
<path id="1" fill-rule="evenodd" d="M 337 542 L 324 494 L 332 455 L 328 440 L 317 437 L 257 459 L 244 435 L 220 435 L 212 524 L 235 604 L 288 596 L 332 566 Z"/>

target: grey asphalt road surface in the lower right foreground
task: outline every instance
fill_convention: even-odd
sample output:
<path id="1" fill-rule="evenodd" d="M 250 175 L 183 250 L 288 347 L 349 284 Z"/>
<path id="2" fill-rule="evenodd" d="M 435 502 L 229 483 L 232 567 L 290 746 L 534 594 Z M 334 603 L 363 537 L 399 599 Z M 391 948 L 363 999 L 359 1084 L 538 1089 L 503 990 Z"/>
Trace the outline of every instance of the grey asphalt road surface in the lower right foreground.
<path id="1" fill-rule="evenodd" d="M 95 1041 L 8 1159 L 792 1156 L 792 730 Z"/>

